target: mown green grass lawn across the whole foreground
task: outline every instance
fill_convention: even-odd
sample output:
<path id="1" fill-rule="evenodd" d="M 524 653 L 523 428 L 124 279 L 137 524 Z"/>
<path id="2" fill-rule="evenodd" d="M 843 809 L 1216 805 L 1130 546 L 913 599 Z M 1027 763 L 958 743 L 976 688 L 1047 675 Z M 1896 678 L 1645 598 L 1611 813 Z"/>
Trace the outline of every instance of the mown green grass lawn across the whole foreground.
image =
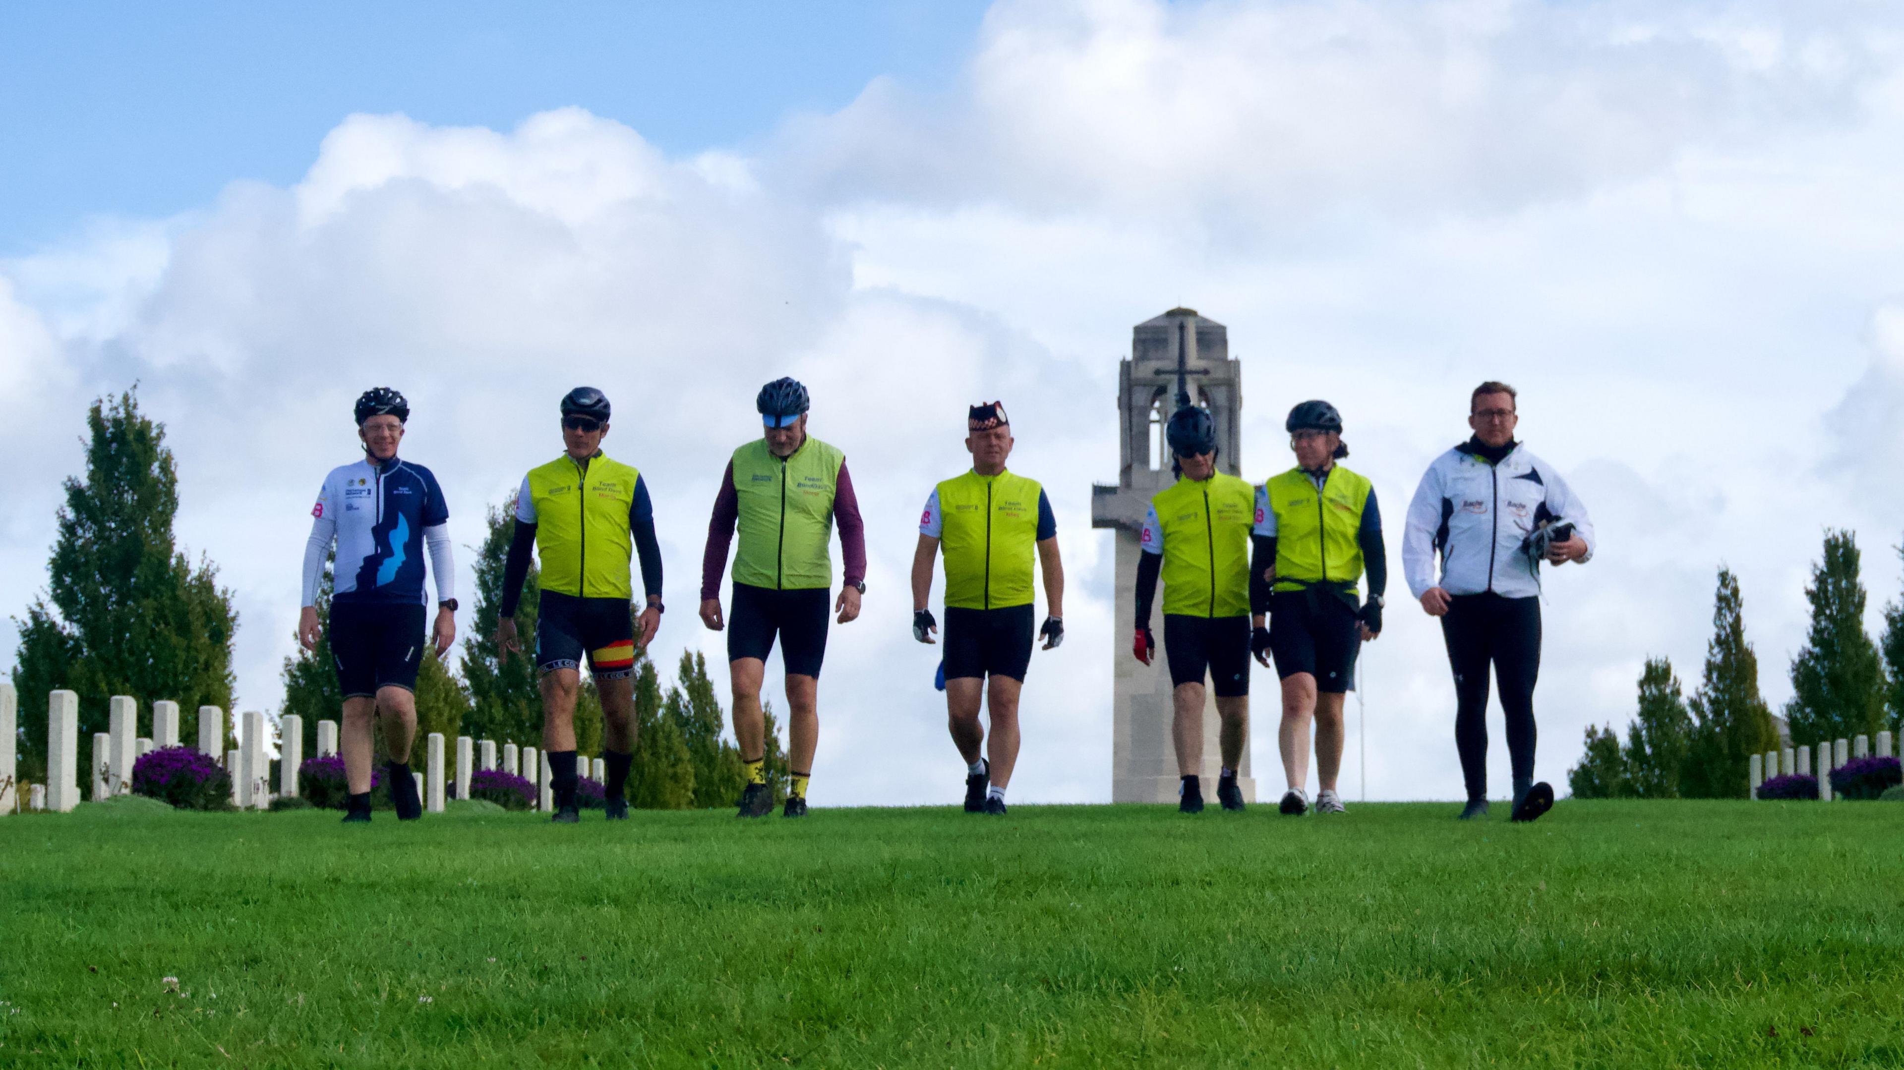
<path id="1" fill-rule="evenodd" d="M 10 817 L 0 1064 L 1904 1066 L 1904 807 L 1453 813 Z"/>

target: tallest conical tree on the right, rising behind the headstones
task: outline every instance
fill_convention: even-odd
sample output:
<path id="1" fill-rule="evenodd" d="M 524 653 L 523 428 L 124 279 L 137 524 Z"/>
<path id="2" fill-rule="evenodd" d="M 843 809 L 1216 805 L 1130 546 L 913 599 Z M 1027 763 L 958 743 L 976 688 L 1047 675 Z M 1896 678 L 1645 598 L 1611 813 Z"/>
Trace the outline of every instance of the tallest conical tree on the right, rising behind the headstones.
<path id="1" fill-rule="evenodd" d="M 1851 531 L 1824 533 L 1824 560 L 1811 569 L 1811 632 L 1792 659 L 1792 739 L 1845 739 L 1885 723 L 1885 676 L 1864 634 L 1864 583 Z"/>

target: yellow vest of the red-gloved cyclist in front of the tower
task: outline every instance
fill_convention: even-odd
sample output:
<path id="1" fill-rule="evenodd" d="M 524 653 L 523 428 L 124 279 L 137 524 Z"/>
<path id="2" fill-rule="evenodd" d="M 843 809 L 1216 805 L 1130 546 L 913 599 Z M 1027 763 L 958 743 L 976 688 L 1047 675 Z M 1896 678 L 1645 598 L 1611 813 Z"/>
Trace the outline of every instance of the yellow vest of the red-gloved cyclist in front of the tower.
<path id="1" fill-rule="evenodd" d="M 1249 615 L 1249 529 L 1257 487 L 1217 472 L 1177 480 L 1150 499 L 1163 527 L 1163 613 Z"/>

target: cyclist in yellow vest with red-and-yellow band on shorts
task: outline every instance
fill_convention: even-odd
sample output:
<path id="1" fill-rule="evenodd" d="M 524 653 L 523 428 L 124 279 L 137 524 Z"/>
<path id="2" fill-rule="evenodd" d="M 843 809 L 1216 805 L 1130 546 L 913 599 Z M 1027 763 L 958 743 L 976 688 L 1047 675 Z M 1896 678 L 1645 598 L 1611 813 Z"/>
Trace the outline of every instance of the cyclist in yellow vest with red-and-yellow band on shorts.
<path id="1" fill-rule="evenodd" d="M 607 398 L 594 386 L 577 386 L 562 398 L 564 455 L 524 476 L 516 495 L 516 537 L 503 564 L 497 645 L 505 659 L 522 649 L 516 602 L 529 575 L 531 548 L 543 565 L 535 664 L 543 672 L 543 752 L 556 796 L 554 821 L 564 824 L 579 821 L 575 691 L 583 659 L 602 693 L 607 819 L 625 821 L 634 763 L 634 651 L 647 647 L 661 628 L 661 543 L 655 541 L 647 480 L 602 455 L 607 417 Z M 640 638 L 628 583 L 628 562 L 636 554 L 647 594 Z"/>

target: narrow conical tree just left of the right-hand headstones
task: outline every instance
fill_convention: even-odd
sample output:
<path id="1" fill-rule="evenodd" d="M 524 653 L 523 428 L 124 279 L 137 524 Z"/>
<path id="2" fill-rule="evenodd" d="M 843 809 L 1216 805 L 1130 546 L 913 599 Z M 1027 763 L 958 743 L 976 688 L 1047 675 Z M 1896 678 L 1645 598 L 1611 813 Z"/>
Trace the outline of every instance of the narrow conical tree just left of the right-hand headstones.
<path id="1" fill-rule="evenodd" d="M 1719 569 L 1712 598 L 1706 674 L 1689 712 L 1693 735 L 1679 777 L 1679 794 L 1706 800 L 1748 798 L 1752 794 L 1748 760 L 1775 746 L 1778 729 L 1759 695 L 1759 657 L 1746 642 L 1738 577 L 1727 567 Z"/>

